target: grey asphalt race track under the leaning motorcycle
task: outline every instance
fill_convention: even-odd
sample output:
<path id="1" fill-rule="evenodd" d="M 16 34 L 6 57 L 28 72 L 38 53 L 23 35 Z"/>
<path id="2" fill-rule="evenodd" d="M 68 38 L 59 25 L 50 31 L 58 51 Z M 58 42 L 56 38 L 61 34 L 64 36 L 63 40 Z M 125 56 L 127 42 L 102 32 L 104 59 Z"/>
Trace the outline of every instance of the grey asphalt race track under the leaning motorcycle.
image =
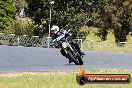
<path id="1" fill-rule="evenodd" d="M 84 51 L 84 68 L 132 69 L 132 53 Z M 76 71 L 59 49 L 0 45 L 0 72 Z"/>

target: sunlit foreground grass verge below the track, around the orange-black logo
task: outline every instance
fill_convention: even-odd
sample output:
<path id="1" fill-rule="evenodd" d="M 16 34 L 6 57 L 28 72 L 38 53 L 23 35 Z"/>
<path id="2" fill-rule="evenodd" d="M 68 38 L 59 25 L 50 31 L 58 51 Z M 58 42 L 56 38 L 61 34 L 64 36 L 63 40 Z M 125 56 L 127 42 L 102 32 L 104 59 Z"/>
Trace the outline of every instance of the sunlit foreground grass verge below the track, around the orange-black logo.
<path id="1" fill-rule="evenodd" d="M 90 70 L 88 74 L 130 74 L 130 70 Z M 0 88 L 132 88 L 129 84 L 85 84 L 76 82 L 74 72 L 0 74 Z"/>

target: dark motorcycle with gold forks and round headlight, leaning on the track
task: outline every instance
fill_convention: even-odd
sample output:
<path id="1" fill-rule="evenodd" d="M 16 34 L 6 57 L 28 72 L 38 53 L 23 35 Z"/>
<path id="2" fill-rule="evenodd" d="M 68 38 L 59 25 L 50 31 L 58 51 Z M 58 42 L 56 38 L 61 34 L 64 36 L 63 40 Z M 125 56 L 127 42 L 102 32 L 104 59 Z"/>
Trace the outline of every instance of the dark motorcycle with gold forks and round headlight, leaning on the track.
<path id="1" fill-rule="evenodd" d="M 58 43 L 55 45 L 58 44 L 57 46 L 61 46 L 60 52 L 69 59 L 69 62 L 74 62 L 76 65 L 83 65 L 83 55 L 80 55 L 76 47 L 72 45 L 73 40 L 71 36 L 70 30 L 64 30 L 62 35 L 56 39 Z"/>

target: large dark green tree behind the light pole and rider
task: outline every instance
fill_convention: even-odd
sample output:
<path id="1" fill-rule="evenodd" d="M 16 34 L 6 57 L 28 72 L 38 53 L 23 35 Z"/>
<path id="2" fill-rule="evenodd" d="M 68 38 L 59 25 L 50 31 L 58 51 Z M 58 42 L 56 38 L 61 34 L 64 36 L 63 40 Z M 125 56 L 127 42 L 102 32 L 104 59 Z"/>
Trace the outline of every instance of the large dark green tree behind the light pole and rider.
<path id="1" fill-rule="evenodd" d="M 59 25 L 66 29 L 72 29 L 77 36 L 79 29 L 86 23 L 88 6 L 84 0 L 54 0 L 55 4 L 50 5 L 48 0 L 27 0 L 29 16 L 35 24 L 43 25 L 45 30 L 49 24 L 49 9 L 52 8 L 51 24 Z M 43 24 L 44 23 L 44 24 Z M 47 30 L 48 31 L 48 30 Z"/>

